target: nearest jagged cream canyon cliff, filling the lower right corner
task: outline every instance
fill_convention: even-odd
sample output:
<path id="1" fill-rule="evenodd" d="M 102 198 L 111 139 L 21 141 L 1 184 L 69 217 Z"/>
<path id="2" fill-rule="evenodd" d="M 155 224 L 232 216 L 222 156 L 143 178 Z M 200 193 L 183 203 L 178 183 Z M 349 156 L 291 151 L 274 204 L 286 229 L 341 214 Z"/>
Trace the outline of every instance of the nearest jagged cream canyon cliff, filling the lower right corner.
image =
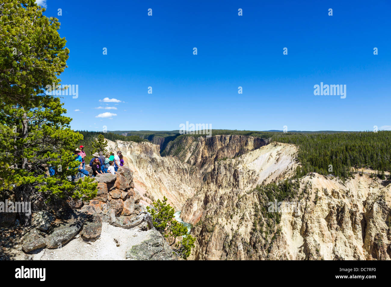
<path id="1" fill-rule="evenodd" d="M 314 174 L 296 182 L 298 210 L 269 212 L 263 191 L 208 191 L 192 259 L 389 260 L 391 185 Z"/>

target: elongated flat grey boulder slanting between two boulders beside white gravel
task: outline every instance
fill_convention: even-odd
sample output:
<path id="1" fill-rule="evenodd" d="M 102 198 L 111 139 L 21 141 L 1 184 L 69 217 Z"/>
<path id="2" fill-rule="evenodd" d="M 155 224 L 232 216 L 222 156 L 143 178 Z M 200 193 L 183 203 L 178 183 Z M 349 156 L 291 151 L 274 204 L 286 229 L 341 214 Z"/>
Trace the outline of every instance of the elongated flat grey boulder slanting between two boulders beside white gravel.
<path id="1" fill-rule="evenodd" d="M 50 234 L 46 237 L 47 248 L 58 248 L 66 242 L 73 239 L 83 227 L 83 223 L 79 220 L 70 220 L 61 223 L 58 227 L 53 228 Z"/>

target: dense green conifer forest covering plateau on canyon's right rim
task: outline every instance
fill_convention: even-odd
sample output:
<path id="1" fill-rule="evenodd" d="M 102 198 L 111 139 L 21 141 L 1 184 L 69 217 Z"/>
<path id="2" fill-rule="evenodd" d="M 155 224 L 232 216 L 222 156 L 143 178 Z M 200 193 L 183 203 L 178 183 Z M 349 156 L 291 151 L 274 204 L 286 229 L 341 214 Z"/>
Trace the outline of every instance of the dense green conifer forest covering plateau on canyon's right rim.
<path id="1" fill-rule="evenodd" d="M 262 132 L 246 130 L 212 130 L 212 135 L 236 134 L 269 138 L 280 143 L 295 144 L 299 148 L 301 168 L 298 176 L 308 172 L 349 177 L 352 168 L 391 170 L 391 131 L 379 132 Z M 185 136 L 178 135 L 175 141 Z M 164 151 L 162 151 L 164 154 Z M 331 165 L 331 166 L 330 166 Z"/>

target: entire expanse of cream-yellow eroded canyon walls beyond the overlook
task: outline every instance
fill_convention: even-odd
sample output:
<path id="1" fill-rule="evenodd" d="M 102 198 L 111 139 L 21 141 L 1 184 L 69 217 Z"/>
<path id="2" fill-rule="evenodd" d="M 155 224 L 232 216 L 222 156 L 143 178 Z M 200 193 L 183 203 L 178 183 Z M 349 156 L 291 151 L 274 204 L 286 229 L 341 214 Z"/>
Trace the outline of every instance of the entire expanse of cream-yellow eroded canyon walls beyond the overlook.
<path id="1" fill-rule="evenodd" d="M 134 171 L 142 202 L 163 196 L 196 237 L 190 259 L 390 259 L 391 184 L 369 175 L 292 180 L 298 212 L 268 212 L 256 189 L 294 175 L 292 144 L 241 135 L 181 136 L 160 146 L 109 141 Z"/>

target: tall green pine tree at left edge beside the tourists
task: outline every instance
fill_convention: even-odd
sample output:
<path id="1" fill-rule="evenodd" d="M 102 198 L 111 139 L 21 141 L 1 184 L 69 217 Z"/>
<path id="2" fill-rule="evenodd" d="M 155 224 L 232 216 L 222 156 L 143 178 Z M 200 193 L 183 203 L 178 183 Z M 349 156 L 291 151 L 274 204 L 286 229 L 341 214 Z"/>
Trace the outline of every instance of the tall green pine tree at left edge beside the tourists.
<path id="1" fill-rule="evenodd" d="M 56 18 L 42 15 L 34 0 L 4 0 L 0 4 L 0 191 L 33 209 L 56 201 L 91 198 L 96 183 L 73 182 L 77 173 L 73 150 L 82 135 L 70 129 L 60 99 L 43 93 L 58 84 L 69 50 L 57 32 Z M 48 167 L 56 174 L 47 175 Z M 20 213 L 23 225 L 31 216 Z"/>

